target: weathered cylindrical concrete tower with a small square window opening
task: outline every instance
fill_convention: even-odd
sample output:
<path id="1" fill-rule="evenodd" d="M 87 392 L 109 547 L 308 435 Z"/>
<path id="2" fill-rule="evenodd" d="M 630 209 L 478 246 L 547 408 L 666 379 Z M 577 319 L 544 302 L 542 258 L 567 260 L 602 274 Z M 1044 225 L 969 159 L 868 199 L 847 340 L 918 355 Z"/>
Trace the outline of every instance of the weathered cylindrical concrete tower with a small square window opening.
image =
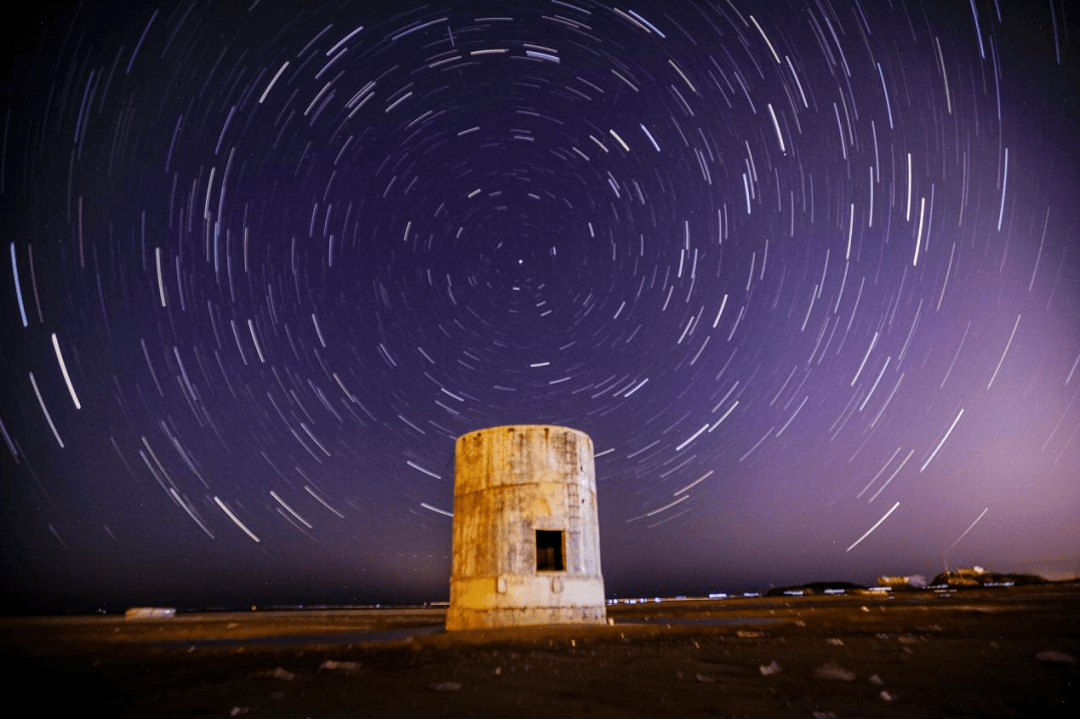
<path id="1" fill-rule="evenodd" d="M 603 624 L 593 443 L 565 426 L 458 437 L 447 629 Z"/>

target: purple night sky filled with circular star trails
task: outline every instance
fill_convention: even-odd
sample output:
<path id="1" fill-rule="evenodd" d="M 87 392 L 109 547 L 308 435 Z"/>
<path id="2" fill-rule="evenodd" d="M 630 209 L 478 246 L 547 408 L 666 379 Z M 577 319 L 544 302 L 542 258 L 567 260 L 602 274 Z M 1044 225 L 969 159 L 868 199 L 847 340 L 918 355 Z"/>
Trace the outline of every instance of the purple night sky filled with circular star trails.
<path id="1" fill-rule="evenodd" d="M 510 423 L 609 596 L 1080 571 L 1069 2 L 40 4 L 9 610 L 445 599 Z"/>

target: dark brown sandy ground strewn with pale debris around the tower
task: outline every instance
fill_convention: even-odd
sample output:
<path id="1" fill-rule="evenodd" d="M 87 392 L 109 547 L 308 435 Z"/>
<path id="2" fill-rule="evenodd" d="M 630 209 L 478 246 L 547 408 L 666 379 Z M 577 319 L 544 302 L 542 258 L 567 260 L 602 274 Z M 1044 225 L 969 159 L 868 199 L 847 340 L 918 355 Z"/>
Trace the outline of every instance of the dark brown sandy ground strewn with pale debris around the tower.
<path id="1" fill-rule="evenodd" d="M 1080 716 L 1076 583 L 608 615 L 454 634 L 432 609 L 8 619 L 0 646 L 9 701 L 43 716 Z"/>

